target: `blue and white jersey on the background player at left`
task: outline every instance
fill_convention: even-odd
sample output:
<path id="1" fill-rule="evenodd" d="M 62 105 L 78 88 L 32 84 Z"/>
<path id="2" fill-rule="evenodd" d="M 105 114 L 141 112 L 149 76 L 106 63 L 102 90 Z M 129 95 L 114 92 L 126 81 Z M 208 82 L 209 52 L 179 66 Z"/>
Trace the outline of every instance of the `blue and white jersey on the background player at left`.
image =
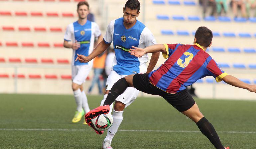
<path id="1" fill-rule="evenodd" d="M 71 23 L 67 26 L 66 33 L 64 35 L 64 40 L 72 41 L 73 43 L 77 40 L 80 42 L 81 47 L 77 50 L 73 50 L 72 65 L 92 65 L 93 61 L 88 63 L 80 63 L 75 61 L 77 58 L 77 53 L 88 56 L 93 51 L 94 39 L 99 37 L 101 31 L 99 26 L 95 22 L 87 20 L 84 25 L 80 25 L 78 21 Z"/>

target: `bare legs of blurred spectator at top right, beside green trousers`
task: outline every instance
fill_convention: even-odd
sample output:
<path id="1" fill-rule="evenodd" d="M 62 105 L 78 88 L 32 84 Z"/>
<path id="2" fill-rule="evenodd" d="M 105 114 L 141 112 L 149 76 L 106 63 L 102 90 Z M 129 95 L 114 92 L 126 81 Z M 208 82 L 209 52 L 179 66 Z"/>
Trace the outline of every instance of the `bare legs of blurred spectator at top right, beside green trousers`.
<path id="1" fill-rule="evenodd" d="M 247 17 L 246 15 L 246 8 L 245 8 L 245 0 L 232 0 L 231 6 L 233 9 L 233 14 L 235 18 L 238 17 L 237 9 L 241 8 L 242 17 Z"/>

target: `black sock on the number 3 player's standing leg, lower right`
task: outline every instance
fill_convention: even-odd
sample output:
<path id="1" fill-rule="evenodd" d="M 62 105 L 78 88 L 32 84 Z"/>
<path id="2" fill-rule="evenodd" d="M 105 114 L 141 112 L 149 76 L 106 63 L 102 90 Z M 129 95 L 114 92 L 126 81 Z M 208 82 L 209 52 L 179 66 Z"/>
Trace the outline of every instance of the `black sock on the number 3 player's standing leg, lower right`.
<path id="1" fill-rule="evenodd" d="M 199 120 L 196 124 L 202 134 L 204 134 L 211 141 L 216 149 L 225 149 L 225 147 L 220 142 L 219 136 L 214 127 L 205 117 Z"/>

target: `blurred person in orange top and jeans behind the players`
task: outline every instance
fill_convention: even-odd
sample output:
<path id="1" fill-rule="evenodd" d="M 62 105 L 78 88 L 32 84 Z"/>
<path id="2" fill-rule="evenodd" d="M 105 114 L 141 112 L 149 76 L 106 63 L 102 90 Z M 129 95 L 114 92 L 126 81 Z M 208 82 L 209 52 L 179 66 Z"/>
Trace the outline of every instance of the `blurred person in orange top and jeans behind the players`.
<path id="1" fill-rule="evenodd" d="M 88 93 L 90 93 L 95 85 L 95 83 L 98 84 L 99 94 L 102 94 L 102 84 L 100 83 L 100 75 L 103 72 L 103 69 L 105 67 L 105 60 L 106 60 L 106 52 L 103 52 L 96 58 L 94 58 L 93 61 L 93 69 L 94 69 L 94 77 L 91 82 L 91 86 L 88 90 Z"/>

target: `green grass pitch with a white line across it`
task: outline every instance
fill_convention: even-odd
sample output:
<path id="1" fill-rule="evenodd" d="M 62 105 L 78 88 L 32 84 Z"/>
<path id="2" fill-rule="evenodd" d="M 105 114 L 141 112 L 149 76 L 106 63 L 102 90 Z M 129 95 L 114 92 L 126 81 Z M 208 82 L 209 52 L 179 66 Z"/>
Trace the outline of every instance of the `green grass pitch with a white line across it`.
<path id="1" fill-rule="evenodd" d="M 102 96 L 88 99 L 93 109 Z M 225 146 L 256 148 L 255 101 L 196 102 Z M 101 148 L 106 133 L 97 135 L 82 121 L 71 123 L 75 108 L 68 95 L 0 94 L 0 148 Z M 214 148 L 196 124 L 162 98 L 137 98 L 123 117 L 113 148 Z"/>

